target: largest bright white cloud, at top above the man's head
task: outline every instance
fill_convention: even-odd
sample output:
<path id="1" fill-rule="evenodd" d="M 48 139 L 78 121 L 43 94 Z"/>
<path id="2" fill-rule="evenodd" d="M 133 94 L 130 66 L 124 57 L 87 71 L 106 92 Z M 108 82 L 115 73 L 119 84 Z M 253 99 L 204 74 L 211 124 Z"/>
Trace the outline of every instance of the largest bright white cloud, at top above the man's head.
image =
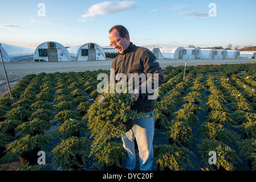
<path id="1" fill-rule="evenodd" d="M 83 14 L 83 18 L 94 18 L 96 15 L 108 15 L 115 14 L 121 11 L 129 10 L 135 8 L 134 1 L 123 1 L 123 2 L 102 2 L 92 5 L 86 14 Z"/>

